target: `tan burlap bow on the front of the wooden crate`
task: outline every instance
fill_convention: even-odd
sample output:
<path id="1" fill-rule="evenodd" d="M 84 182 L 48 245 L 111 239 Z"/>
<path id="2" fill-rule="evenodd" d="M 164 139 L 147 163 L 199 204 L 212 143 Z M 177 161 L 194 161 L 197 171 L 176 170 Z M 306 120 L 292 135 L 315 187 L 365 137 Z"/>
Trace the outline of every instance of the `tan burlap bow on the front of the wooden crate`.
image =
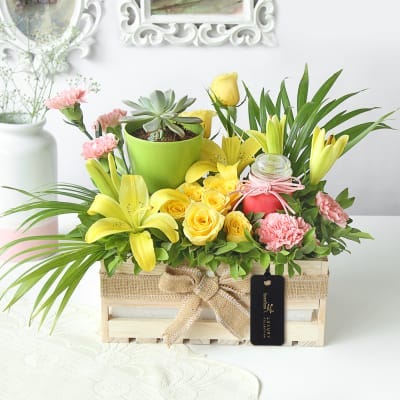
<path id="1" fill-rule="evenodd" d="M 169 268 L 161 275 L 159 289 L 163 292 L 187 294 L 175 321 L 164 332 L 168 345 L 184 335 L 199 318 L 202 302 L 214 311 L 216 320 L 239 339 L 247 336 L 249 310 L 239 302 L 250 291 L 249 278 L 234 280 L 229 269 L 209 277 L 197 268 Z"/>

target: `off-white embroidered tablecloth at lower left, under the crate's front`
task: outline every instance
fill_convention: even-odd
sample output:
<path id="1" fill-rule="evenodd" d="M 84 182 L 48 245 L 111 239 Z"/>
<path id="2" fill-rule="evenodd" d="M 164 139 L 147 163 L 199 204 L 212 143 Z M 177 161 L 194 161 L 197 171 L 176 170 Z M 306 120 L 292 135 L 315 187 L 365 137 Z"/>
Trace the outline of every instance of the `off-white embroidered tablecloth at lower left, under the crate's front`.
<path id="1" fill-rule="evenodd" d="M 93 309 L 71 307 L 52 336 L 22 304 L 0 313 L 0 400 L 254 400 L 249 372 L 185 345 L 103 344 Z"/>

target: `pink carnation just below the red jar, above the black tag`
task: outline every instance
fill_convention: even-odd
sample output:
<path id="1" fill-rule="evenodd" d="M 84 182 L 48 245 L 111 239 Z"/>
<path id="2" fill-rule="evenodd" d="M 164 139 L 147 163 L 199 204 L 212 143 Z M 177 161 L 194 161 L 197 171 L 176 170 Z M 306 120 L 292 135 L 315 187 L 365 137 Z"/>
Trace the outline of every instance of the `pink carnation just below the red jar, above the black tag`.
<path id="1" fill-rule="evenodd" d="M 310 229 L 311 226 L 303 218 L 271 213 L 260 221 L 257 233 L 267 250 L 278 252 L 282 247 L 289 250 L 299 245 Z"/>

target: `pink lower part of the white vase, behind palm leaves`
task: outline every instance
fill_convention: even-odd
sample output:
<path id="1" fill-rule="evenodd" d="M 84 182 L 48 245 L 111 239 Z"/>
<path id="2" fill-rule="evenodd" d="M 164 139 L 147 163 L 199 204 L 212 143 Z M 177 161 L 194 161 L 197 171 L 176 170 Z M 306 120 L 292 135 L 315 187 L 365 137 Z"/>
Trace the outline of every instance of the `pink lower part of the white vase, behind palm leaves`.
<path id="1" fill-rule="evenodd" d="M 17 240 L 26 236 L 43 236 L 43 235 L 56 235 L 56 234 L 58 234 L 57 219 L 53 219 L 52 221 L 46 224 L 29 229 L 29 231 L 27 232 L 17 231 L 15 229 L 9 229 L 9 228 L 0 228 L 0 247 L 4 246 L 6 243 L 12 242 L 13 240 Z M 31 247 L 40 246 L 46 243 L 50 243 L 50 241 L 37 240 L 37 241 L 28 241 L 20 243 L 14 246 L 12 249 L 7 250 L 5 253 L 1 254 L 0 260 L 7 260 L 9 257 L 19 253 L 20 251 L 28 250 Z M 34 253 L 29 253 L 29 255 L 33 254 Z M 25 257 L 27 257 L 26 254 L 16 257 L 13 261 L 20 261 Z"/>

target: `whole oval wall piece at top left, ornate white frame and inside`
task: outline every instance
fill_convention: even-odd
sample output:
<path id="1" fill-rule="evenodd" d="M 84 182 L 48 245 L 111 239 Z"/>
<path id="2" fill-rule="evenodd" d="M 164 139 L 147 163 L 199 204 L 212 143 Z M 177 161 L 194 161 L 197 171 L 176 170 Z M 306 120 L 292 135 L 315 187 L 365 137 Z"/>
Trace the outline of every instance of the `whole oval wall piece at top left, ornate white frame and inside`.
<path id="1" fill-rule="evenodd" d="M 2 0 L 0 21 L 5 32 L 0 37 L 0 50 L 4 54 L 7 49 L 20 47 L 37 55 L 59 48 L 65 52 L 65 70 L 71 51 L 78 50 L 82 58 L 90 53 L 102 17 L 102 3 L 103 0 Z M 24 11 L 23 7 L 29 8 Z M 54 27 L 59 29 L 56 34 Z"/>

